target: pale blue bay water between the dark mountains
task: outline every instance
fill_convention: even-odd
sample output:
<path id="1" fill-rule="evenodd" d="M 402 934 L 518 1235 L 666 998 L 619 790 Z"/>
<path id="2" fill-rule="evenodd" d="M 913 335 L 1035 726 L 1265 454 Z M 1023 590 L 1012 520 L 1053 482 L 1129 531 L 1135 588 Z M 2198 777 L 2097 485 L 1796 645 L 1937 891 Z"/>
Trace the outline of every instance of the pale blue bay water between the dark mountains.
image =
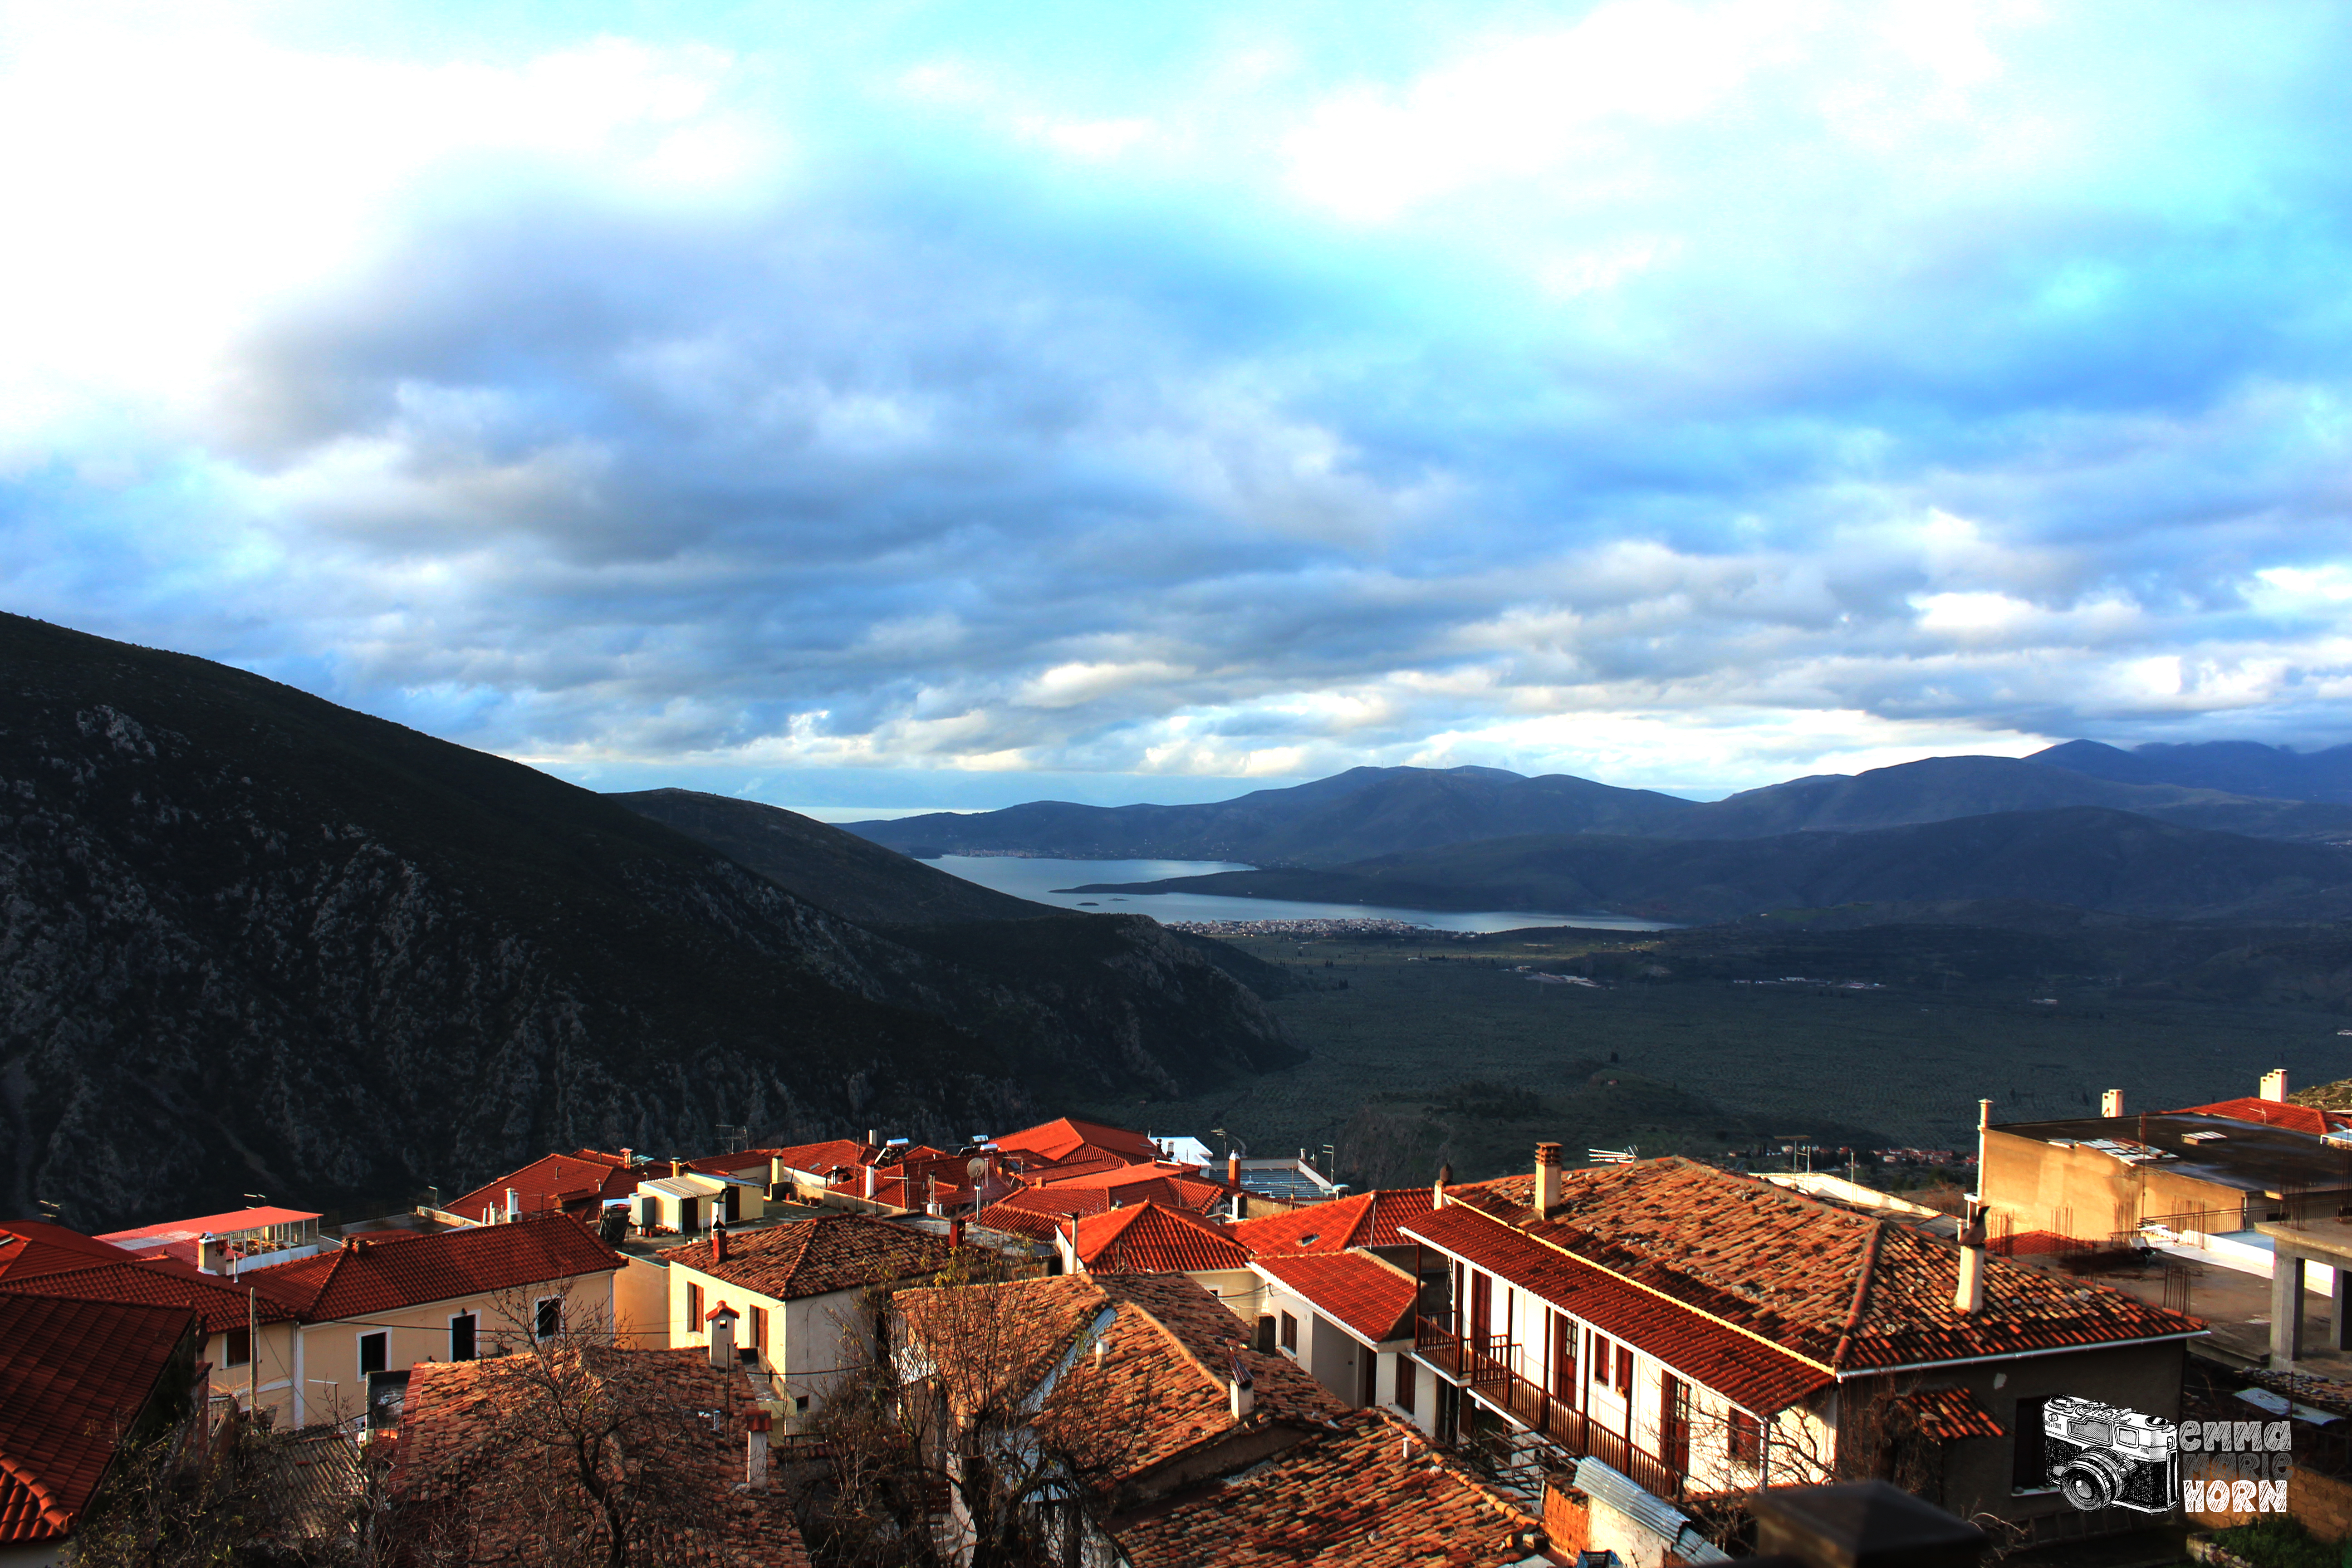
<path id="1" fill-rule="evenodd" d="M 1402 919 L 1432 931 L 1517 931 L 1519 926 L 1597 926 L 1602 931 L 1670 931 L 1653 919 L 1623 914 L 1557 914 L 1548 910 L 1395 910 L 1376 903 L 1305 903 L 1298 898 L 1230 898 L 1223 893 L 1056 893 L 1084 882 L 1164 882 L 1247 872 L 1232 860 L 1021 860 L 1014 856 L 941 856 L 927 860 L 985 889 L 1049 903 L 1061 910 L 1150 914 L 1152 919 Z"/>

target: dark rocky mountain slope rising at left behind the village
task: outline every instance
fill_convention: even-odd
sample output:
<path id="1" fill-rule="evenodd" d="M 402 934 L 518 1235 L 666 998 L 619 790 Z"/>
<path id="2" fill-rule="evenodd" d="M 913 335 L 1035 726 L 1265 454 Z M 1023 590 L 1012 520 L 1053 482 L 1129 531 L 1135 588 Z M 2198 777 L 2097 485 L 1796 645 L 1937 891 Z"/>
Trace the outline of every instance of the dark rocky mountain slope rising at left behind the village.
<path id="1" fill-rule="evenodd" d="M 854 903 L 863 846 L 835 849 Z M 1033 926 L 1063 943 L 1044 980 Z M 1148 919 L 941 931 L 289 686 L 0 616 L 0 1213 L 407 1201 L 713 1124 L 955 1140 L 1296 1060 Z"/>

